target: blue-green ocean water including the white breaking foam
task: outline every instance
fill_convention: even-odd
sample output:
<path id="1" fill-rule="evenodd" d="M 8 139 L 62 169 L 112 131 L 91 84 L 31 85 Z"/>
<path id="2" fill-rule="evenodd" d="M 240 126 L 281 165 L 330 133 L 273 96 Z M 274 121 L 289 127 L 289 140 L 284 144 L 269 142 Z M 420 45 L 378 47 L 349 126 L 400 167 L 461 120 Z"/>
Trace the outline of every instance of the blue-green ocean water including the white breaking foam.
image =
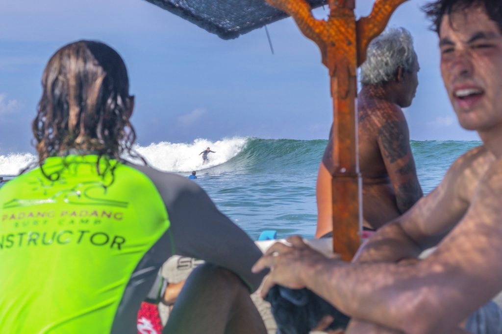
<path id="1" fill-rule="evenodd" d="M 217 207 L 257 238 L 265 229 L 279 237 L 313 237 L 316 225 L 315 183 L 327 140 L 226 138 L 216 142 L 153 143 L 137 146 L 148 163 L 158 169 L 190 175 Z M 417 173 L 424 193 L 443 178 L 455 159 L 477 141 L 411 141 Z M 210 147 L 209 163 L 198 154 Z M 30 153 L 0 155 L 0 176 L 9 179 L 27 166 Z"/>

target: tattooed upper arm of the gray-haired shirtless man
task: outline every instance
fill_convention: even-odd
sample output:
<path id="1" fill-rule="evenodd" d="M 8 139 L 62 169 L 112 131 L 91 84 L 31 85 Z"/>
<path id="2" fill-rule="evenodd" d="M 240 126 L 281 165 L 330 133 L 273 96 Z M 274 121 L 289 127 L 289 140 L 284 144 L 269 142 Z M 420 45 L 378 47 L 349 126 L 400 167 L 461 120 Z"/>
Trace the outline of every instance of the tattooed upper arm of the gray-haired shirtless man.
<path id="1" fill-rule="evenodd" d="M 398 209 L 403 214 L 423 193 L 418 183 L 406 119 L 401 109 L 397 106 L 393 108 L 395 110 L 386 115 L 379 129 L 378 144 L 394 187 Z"/>

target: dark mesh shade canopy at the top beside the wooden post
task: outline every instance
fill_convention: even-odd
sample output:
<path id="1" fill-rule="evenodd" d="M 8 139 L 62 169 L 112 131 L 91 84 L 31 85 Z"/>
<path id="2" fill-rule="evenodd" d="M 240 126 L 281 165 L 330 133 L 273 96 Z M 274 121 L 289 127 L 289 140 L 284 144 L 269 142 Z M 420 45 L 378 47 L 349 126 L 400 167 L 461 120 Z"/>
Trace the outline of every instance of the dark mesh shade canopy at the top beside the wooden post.
<path id="1" fill-rule="evenodd" d="M 265 0 L 147 0 L 224 40 L 261 28 L 288 15 Z M 308 0 L 312 8 L 326 0 Z"/>

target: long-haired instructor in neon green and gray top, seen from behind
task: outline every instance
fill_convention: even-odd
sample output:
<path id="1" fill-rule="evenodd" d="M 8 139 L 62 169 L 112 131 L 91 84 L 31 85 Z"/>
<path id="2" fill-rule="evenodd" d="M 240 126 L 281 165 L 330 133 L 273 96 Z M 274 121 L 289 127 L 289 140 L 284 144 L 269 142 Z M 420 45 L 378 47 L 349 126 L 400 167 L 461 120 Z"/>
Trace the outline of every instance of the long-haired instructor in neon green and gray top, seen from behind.
<path id="1" fill-rule="evenodd" d="M 226 268 L 241 295 L 258 288 L 264 275 L 250 268 L 261 251 L 195 182 L 122 158 L 140 156 L 134 97 L 113 49 L 62 47 L 42 89 L 32 124 L 38 163 L 0 189 L 2 333 L 136 334 L 140 304 L 173 254 L 204 259 L 216 273 Z M 26 289 L 34 279 L 43 287 L 36 293 Z M 235 316 L 242 302 L 249 307 L 242 300 Z M 245 317 L 259 323 L 247 307 Z M 197 316 L 210 320 L 212 310 Z"/>

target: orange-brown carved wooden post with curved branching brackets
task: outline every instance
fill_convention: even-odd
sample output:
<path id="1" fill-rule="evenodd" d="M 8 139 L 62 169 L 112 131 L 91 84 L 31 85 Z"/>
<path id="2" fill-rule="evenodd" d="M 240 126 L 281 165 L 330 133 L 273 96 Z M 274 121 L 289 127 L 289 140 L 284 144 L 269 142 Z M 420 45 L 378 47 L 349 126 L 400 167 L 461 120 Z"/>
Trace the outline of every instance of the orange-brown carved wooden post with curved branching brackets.
<path id="1" fill-rule="evenodd" d="M 327 21 L 312 16 L 305 0 L 266 0 L 290 15 L 300 31 L 321 50 L 331 77 L 333 148 L 331 159 L 333 250 L 349 261 L 360 245 L 362 184 L 357 155 L 356 70 L 366 59 L 366 48 L 380 35 L 392 13 L 407 0 L 376 0 L 368 17 L 355 20 L 355 0 L 328 0 Z"/>

